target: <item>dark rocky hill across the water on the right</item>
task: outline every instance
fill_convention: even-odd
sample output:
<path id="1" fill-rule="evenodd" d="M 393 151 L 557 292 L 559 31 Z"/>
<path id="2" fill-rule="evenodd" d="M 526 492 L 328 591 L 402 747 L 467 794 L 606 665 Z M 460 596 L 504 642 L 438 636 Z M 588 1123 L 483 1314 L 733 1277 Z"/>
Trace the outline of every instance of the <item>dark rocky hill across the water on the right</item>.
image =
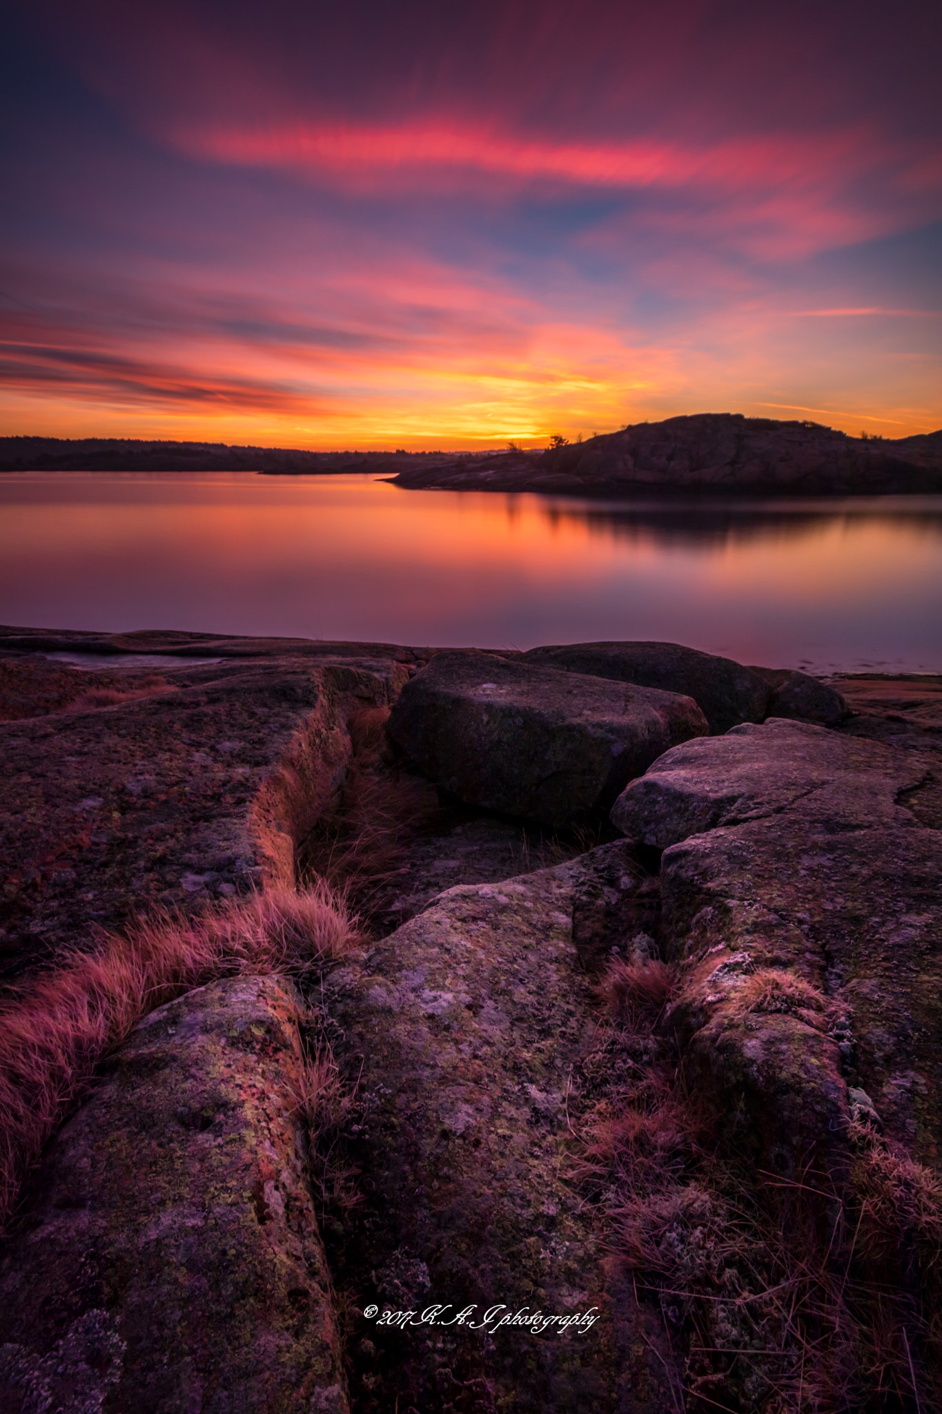
<path id="1" fill-rule="evenodd" d="M 942 431 L 895 441 L 847 437 L 818 423 L 698 413 L 636 423 L 545 452 L 456 457 L 410 465 L 407 488 L 545 491 L 623 496 L 638 492 L 849 495 L 942 492 Z"/>

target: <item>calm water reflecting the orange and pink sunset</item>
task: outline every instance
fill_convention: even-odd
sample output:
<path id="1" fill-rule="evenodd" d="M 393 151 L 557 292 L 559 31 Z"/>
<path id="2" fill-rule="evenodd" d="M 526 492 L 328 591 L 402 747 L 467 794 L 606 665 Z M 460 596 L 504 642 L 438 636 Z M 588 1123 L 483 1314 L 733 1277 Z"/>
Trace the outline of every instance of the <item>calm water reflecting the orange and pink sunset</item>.
<path id="1" fill-rule="evenodd" d="M 371 477 L 0 477 L 0 621 L 942 672 L 942 496 L 599 503 Z"/>

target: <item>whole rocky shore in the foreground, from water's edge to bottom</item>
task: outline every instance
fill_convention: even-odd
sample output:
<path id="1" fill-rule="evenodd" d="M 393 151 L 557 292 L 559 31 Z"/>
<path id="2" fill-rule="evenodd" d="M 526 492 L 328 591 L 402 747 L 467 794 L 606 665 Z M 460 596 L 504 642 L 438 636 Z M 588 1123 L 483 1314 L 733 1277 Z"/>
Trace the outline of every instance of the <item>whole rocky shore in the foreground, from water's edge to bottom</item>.
<path id="1" fill-rule="evenodd" d="M 938 1401 L 942 676 L 0 629 L 0 713 L 7 1008 L 161 908 L 364 919 L 103 1059 L 0 1249 L 4 1408 Z"/>

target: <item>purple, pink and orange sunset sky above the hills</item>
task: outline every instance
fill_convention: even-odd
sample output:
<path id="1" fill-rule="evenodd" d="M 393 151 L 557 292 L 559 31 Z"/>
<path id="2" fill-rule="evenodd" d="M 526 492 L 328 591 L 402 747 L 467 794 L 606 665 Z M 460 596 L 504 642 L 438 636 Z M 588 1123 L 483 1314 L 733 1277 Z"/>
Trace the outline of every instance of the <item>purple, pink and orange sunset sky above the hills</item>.
<path id="1" fill-rule="evenodd" d="M 0 434 L 942 427 L 938 0 L 0 18 Z"/>

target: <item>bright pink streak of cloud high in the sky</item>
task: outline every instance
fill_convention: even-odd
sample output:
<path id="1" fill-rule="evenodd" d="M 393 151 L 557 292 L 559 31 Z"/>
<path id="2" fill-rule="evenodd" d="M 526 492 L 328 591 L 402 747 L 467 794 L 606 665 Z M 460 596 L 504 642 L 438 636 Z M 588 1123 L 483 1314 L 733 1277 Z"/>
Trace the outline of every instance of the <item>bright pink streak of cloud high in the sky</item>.
<path id="1" fill-rule="evenodd" d="M 354 194 L 458 192 L 513 199 L 595 188 L 644 194 L 633 232 L 710 239 L 760 260 L 795 259 L 942 216 L 936 160 L 857 124 L 727 139 L 559 141 L 448 113 L 400 124 L 292 120 L 168 129 L 188 156 L 274 168 Z M 604 228 L 592 238 L 604 243 Z"/>

